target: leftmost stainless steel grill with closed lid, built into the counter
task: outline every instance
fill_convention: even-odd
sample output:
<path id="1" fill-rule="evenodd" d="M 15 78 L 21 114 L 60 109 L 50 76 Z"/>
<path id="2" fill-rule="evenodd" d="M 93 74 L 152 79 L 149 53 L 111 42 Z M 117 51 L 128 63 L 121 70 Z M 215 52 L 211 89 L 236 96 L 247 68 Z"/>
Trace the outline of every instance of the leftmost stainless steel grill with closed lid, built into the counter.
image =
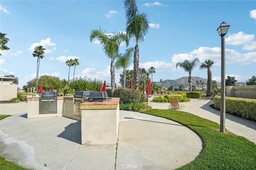
<path id="1" fill-rule="evenodd" d="M 39 97 L 39 114 L 57 113 L 57 93 L 56 91 L 44 91 Z"/>

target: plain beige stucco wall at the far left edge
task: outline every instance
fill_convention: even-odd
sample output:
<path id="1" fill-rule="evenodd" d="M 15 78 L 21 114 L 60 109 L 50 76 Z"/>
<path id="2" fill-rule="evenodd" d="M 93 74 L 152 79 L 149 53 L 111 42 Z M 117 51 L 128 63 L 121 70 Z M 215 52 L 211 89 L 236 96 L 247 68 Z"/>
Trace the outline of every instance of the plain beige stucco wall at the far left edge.
<path id="1" fill-rule="evenodd" d="M 0 101 L 9 101 L 17 97 L 17 85 L 0 84 Z"/>

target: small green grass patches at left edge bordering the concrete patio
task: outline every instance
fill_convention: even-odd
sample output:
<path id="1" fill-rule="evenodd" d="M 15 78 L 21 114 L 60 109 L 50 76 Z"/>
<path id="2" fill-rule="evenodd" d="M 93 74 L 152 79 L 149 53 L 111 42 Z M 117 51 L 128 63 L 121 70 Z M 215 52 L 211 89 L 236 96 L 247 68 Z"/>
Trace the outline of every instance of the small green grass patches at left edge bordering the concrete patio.
<path id="1" fill-rule="evenodd" d="M 0 120 L 9 117 L 11 115 L 0 115 Z M 6 160 L 4 157 L 0 156 L 0 170 L 32 170 L 28 168 L 24 168 L 16 164 L 15 162 Z"/>

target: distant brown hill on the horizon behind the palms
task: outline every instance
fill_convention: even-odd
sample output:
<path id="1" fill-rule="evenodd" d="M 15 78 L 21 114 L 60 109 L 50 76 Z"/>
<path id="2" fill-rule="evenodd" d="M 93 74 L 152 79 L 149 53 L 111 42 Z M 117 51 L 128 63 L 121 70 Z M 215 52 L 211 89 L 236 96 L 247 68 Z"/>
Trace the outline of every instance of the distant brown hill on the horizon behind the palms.
<path id="1" fill-rule="evenodd" d="M 200 81 L 200 80 L 204 81 L 204 85 L 207 84 L 207 79 L 203 79 L 200 77 L 191 77 L 191 80 L 192 80 L 192 85 L 196 85 L 196 81 Z M 156 85 L 160 85 L 160 81 L 155 82 L 155 83 L 156 83 Z M 188 77 L 181 77 L 176 80 L 164 80 L 164 81 L 162 81 L 161 84 L 162 84 L 162 87 L 166 87 L 166 88 L 170 87 L 171 85 L 173 85 L 174 87 L 178 87 L 180 85 L 183 85 L 184 87 L 189 86 Z"/>

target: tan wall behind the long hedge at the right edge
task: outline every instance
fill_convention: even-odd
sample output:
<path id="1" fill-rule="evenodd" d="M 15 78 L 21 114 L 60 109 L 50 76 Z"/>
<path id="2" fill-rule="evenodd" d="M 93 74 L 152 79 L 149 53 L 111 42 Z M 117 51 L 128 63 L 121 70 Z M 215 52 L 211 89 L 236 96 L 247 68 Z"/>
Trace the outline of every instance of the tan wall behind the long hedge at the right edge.
<path id="1" fill-rule="evenodd" d="M 256 99 L 256 85 L 226 86 L 226 96 Z"/>

